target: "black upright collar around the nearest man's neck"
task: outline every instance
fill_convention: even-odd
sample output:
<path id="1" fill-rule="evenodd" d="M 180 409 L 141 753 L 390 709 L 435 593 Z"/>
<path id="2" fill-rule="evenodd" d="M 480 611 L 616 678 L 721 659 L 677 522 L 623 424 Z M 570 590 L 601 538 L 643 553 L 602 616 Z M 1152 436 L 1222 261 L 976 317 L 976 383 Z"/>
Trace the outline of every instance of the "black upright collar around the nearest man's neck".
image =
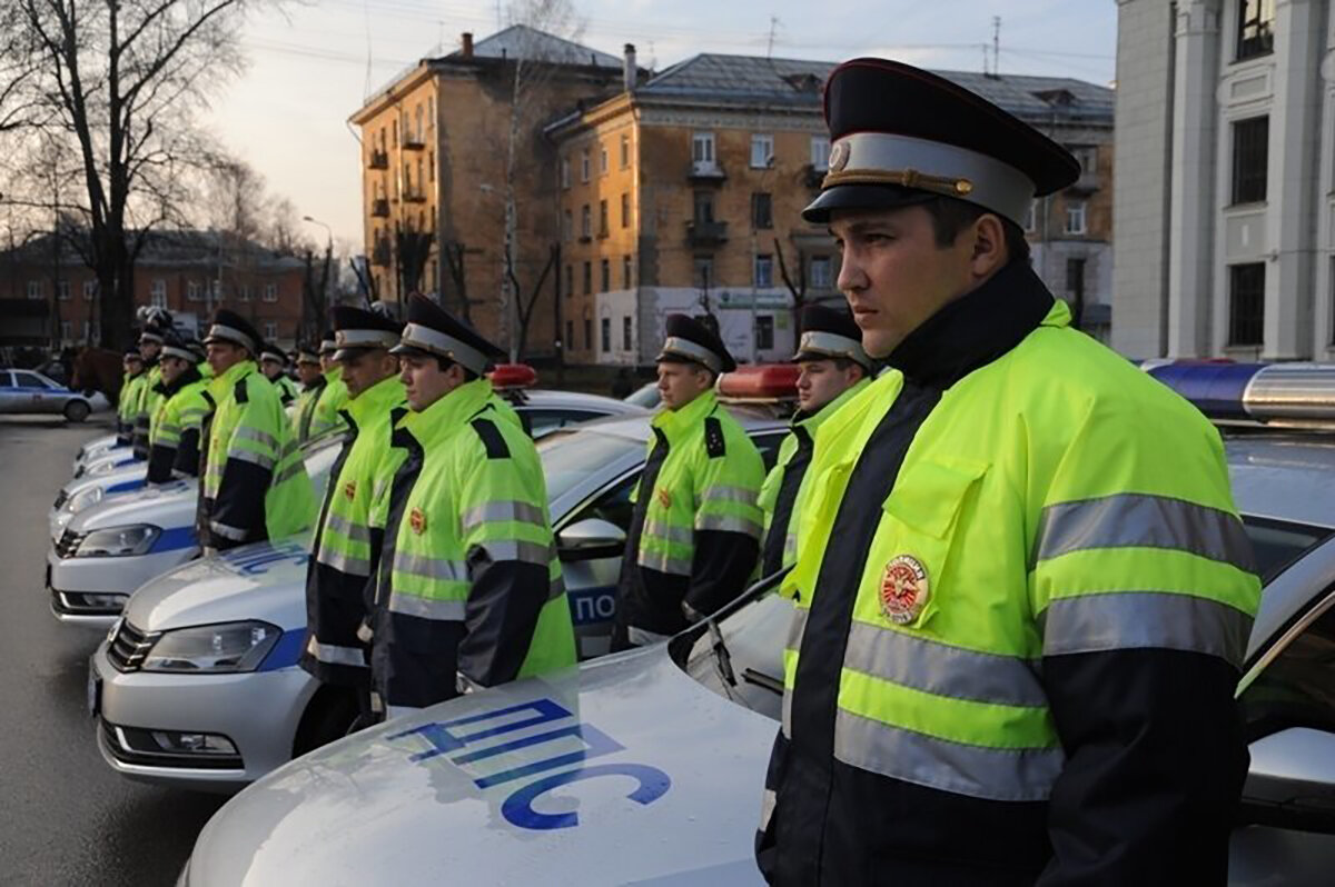
<path id="1" fill-rule="evenodd" d="M 973 292 L 928 317 L 886 359 L 921 385 L 949 388 L 1015 348 L 1040 325 L 1065 325 L 1028 261 L 1012 261 Z"/>

